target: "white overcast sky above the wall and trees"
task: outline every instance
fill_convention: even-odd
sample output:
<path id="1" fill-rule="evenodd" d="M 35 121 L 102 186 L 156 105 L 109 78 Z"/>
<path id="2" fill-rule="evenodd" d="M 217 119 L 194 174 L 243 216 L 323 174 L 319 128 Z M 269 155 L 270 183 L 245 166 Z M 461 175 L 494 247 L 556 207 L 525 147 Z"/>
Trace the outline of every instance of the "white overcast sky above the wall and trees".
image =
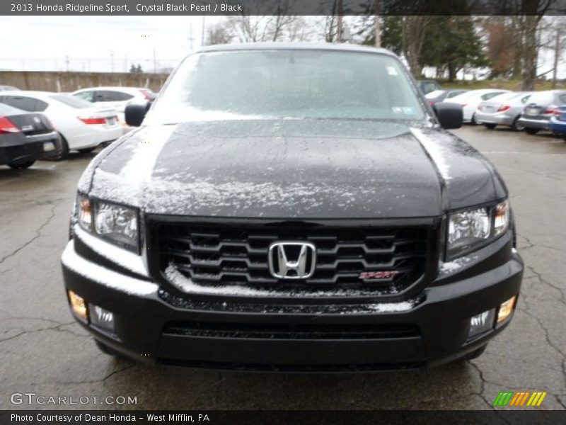
<path id="1" fill-rule="evenodd" d="M 205 16 L 205 28 L 224 19 Z M 202 24 L 202 16 L 0 16 L 0 69 L 64 71 L 67 57 L 71 71 L 175 67 L 190 52 L 191 38 L 192 47 L 201 45 Z M 541 51 L 538 73 L 552 67 L 553 52 Z"/>

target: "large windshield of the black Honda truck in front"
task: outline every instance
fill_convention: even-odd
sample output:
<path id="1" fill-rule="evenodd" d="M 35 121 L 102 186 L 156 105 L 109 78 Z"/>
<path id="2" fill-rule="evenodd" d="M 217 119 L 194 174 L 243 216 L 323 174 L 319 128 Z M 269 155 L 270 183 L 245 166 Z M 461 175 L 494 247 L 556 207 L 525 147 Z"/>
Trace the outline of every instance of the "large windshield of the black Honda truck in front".
<path id="1" fill-rule="evenodd" d="M 423 117 L 415 88 L 393 57 L 325 50 L 242 50 L 187 57 L 146 123 Z"/>

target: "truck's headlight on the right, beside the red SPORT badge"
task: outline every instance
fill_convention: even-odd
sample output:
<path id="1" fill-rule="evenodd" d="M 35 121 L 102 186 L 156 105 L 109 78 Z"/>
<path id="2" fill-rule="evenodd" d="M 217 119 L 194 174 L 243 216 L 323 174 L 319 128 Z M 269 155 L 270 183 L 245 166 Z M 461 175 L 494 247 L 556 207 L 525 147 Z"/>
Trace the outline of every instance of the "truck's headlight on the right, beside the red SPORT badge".
<path id="1" fill-rule="evenodd" d="M 448 217 L 447 260 L 468 254 L 492 239 L 499 237 L 509 227 L 507 200 L 492 207 L 458 211 Z"/>

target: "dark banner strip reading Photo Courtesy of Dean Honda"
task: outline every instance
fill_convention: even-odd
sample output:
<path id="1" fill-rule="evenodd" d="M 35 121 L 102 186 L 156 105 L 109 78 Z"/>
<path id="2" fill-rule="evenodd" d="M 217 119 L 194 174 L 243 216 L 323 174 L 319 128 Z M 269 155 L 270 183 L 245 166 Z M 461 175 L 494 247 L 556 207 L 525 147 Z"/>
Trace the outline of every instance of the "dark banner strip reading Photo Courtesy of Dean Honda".
<path id="1" fill-rule="evenodd" d="M 396 424 L 564 424 L 566 411 L 487 410 L 487 411 L 251 411 L 251 410 L 194 410 L 194 411 L 110 411 L 110 410 L 4 410 L 0 424 L 19 425 L 236 425 L 236 424 L 339 424 L 339 425 L 396 425 Z"/>

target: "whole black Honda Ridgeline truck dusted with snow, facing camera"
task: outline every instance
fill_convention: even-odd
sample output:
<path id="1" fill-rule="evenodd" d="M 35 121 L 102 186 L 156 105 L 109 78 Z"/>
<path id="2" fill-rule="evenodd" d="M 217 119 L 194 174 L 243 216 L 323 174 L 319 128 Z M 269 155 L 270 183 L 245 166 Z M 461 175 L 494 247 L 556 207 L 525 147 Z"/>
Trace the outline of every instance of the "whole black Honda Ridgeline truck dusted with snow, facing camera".
<path id="1" fill-rule="evenodd" d="M 492 164 L 398 57 L 189 55 L 79 181 L 62 255 L 106 353 L 238 370 L 422 368 L 509 324 L 523 263 Z"/>

